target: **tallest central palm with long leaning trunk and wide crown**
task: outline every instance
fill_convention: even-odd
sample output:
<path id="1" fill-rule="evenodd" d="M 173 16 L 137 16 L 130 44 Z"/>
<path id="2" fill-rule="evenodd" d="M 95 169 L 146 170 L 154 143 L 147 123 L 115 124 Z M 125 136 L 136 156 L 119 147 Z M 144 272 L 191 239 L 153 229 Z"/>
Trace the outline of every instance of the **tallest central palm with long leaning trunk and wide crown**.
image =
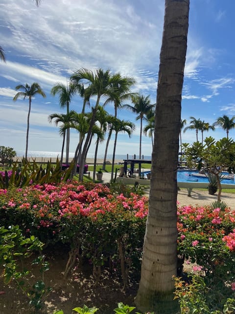
<path id="1" fill-rule="evenodd" d="M 103 71 L 102 69 L 96 70 L 94 73 L 88 69 L 79 69 L 73 73 L 71 76 L 71 83 L 84 83 L 88 84 L 85 89 L 84 98 L 86 100 L 93 96 L 96 96 L 96 103 L 94 105 L 94 110 L 92 111 L 92 119 L 90 122 L 90 127 L 87 133 L 87 137 L 82 149 L 80 169 L 79 169 L 79 181 L 83 179 L 83 168 L 85 164 L 85 157 L 87 154 L 88 145 L 92 136 L 92 128 L 95 122 L 95 115 L 100 103 L 100 98 L 108 99 L 111 95 L 114 95 L 116 90 L 112 84 L 118 84 L 122 81 L 120 74 L 111 74 L 110 70 Z"/>

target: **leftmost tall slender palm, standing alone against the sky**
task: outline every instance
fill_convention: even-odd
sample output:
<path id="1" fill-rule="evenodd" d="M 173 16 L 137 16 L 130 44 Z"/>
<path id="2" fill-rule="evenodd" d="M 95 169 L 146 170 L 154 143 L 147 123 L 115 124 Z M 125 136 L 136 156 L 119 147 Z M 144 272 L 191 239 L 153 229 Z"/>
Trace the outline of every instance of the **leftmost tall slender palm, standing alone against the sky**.
<path id="1" fill-rule="evenodd" d="M 32 98 L 35 95 L 41 95 L 43 98 L 46 97 L 44 91 L 42 90 L 41 86 L 39 83 L 32 83 L 31 86 L 28 84 L 24 85 L 17 85 L 16 90 L 22 90 L 21 92 L 18 92 L 14 98 L 13 101 L 17 101 L 18 98 L 28 98 L 29 101 L 29 106 L 28 106 L 28 117 L 27 117 L 27 131 L 26 131 L 26 148 L 25 148 L 25 159 L 27 159 L 27 153 L 28 153 L 28 132 L 29 132 L 29 116 L 30 116 L 30 111 L 31 111 L 31 103 L 32 103 Z"/>

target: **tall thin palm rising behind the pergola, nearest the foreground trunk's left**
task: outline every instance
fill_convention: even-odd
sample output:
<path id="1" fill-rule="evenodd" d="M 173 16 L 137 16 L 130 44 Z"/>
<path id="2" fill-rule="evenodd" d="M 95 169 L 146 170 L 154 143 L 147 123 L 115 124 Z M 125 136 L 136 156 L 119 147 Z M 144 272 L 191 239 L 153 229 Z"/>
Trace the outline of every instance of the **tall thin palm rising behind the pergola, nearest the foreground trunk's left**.
<path id="1" fill-rule="evenodd" d="M 124 105 L 127 109 L 131 110 L 133 113 L 137 114 L 136 120 L 141 120 L 141 130 L 140 130 L 140 159 L 141 159 L 141 141 L 142 141 L 142 123 L 144 116 L 153 108 L 154 105 L 150 104 L 149 96 L 144 97 L 143 95 L 137 95 L 131 97 L 132 105 Z"/>

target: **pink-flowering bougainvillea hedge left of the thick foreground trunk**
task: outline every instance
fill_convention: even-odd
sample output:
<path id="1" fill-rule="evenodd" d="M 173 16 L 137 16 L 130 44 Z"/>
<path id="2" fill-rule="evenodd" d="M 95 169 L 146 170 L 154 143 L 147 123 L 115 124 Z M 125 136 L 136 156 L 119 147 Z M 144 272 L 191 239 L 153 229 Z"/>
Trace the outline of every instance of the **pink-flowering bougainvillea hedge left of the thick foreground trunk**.
<path id="1" fill-rule="evenodd" d="M 25 233 L 38 236 L 47 245 L 69 243 L 66 274 L 76 258 L 86 257 L 98 280 L 100 267 L 111 259 L 120 265 L 124 285 L 128 270 L 140 269 L 147 209 L 146 197 L 112 195 L 101 184 L 74 181 L 0 189 L 2 225 L 20 223 Z"/>

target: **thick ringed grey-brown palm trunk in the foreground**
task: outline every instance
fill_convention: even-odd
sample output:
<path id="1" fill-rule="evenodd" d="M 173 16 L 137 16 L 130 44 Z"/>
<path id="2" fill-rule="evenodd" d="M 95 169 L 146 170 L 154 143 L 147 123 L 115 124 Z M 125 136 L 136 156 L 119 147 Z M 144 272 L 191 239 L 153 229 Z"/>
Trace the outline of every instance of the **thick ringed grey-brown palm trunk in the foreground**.
<path id="1" fill-rule="evenodd" d="M 155 314 L 178 311 L 172 276 L 177 270 L 177 165 L 188 11 L 189 0 L 165 0 L 149 213 L 135 300 L 141 312 Z"/>

